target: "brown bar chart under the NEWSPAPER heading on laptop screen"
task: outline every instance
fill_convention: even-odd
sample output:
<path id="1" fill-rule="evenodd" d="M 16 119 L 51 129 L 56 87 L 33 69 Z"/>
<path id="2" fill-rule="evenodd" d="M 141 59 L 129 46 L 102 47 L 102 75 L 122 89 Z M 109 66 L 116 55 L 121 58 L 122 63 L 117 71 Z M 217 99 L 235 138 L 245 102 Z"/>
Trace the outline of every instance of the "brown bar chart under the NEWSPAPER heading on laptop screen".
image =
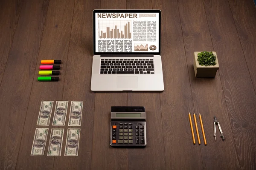
<path id="1" fill-rule="evenodd" d="M 131 38 L 131 20 L 98 20 L 99 38 Z"/>

